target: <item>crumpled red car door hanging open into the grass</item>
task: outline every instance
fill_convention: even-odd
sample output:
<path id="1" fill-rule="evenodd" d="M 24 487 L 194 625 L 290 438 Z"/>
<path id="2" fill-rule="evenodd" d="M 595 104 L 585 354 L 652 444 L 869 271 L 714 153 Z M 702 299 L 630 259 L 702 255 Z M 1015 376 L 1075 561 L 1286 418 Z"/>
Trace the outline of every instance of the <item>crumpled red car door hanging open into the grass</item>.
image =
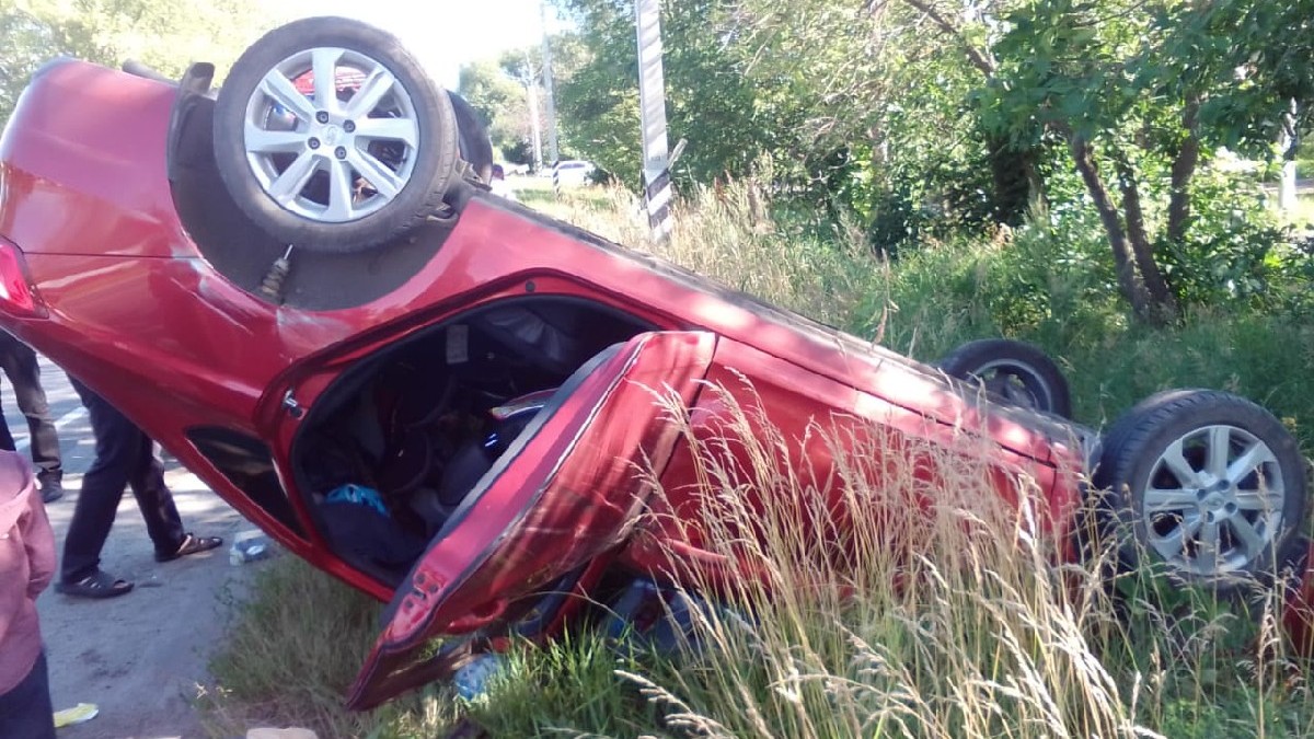
<path id="1" fill-rule="evenodd" d="M 348 706 L 449 675 L 472 639 L 506 629 L 512 604 L 624 542 L 679 438 L 671 412 L 695 401 L 715 345 L 646 333 L 576 371 L 397 589 Z M 438 635 L 459 636 L 422 659 Z"/>

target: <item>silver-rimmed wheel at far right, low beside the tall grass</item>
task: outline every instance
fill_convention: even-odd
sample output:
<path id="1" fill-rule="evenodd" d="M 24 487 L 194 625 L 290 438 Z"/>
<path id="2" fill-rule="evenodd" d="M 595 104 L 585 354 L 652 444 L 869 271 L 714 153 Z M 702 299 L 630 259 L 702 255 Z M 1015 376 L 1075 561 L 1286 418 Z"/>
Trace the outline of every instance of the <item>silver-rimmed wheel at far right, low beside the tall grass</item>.
<path id="1" fill-rule="evenodd" d="M 1104 490 L 1101 529 L 1116 536 L 1123 569 L 1148 558 L 1183 580 L 1236 592 L 1271 584 L 1303 555 L 1305 459 L 1277 418 L 1231 393 L 1146 398 L 1105 435 L 1092 483 Z"/>

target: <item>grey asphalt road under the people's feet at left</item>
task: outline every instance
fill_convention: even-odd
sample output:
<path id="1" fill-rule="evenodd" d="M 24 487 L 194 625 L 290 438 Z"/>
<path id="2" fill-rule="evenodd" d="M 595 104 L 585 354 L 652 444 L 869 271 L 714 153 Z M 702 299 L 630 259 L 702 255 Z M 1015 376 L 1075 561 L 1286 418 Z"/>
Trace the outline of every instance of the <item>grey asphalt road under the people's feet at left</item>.
<path id="1" fill-rule="evenodd" d="M 0 375 L 0 408 L 18 451 L 28 454 L 28 425 Z M 57 547 L 63 547 L 81 475 L 92 462 L 87 413 L 68 379 L 42 360 L 42 385 L 59 429 L 66 494 L 47 506 Z M 101 567 L 137 588 L 106 601 L 70 598 L 49 589 L 38 600 L 55 709 L 96 703 L 95 719 L 59 731 L 60 739 L 159 739 L 205 736 L 193 709 L 208 682 L 206 660 L 223 639 L 226 602 L 261 563 L 229 564 L 227 542 L 250 529 L 237 512 L 166 456 L 166 480 L 183 522 L 219 535 L 212 552 L 159 564 L 131 494 L 124 496 Z"/>

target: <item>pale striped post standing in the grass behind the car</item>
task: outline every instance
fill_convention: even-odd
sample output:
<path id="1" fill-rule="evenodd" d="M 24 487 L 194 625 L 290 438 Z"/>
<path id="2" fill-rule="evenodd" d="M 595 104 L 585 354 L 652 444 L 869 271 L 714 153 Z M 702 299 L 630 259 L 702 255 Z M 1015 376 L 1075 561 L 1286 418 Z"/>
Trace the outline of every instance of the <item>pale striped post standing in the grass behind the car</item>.
<path id="1" fill-rule="evenodd" d="M 661 0 L 637 0 L 639 108 L 644 129 L 644 201 L 653 241 L 670 235 L 670 153 L 666 147 L 666 80 L 661 66 Z"/>

